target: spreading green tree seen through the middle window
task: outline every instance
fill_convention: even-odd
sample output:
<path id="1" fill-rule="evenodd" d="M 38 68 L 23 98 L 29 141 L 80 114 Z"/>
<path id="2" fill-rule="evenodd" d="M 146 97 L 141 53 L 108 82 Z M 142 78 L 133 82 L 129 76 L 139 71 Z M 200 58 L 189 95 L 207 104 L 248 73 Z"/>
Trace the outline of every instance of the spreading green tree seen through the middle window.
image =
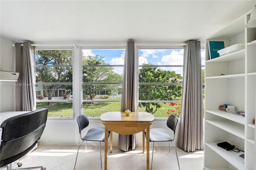
<path id="1" fill-rule="evenodd" d="M 83 57 L 83 82 L 86 83 L 99 83 L 97 85 L 83 85 L 83 97 L 94 100 L 96 94 L 103 89 L 108 89 L 108 95 L 113 95 L 118 91 L 118 85 L 106 85 L 100 83 L 107 82 L 122 82 L 122 75 L 116 73 L 113 67 L 98 67 L 100 65 L 109 65 L 105 63 L 102 56 L 84 56 Z M 93 66 L 88 66 L 93 65 Z M 97 66 L 95 66 L 97 65 Z"/>

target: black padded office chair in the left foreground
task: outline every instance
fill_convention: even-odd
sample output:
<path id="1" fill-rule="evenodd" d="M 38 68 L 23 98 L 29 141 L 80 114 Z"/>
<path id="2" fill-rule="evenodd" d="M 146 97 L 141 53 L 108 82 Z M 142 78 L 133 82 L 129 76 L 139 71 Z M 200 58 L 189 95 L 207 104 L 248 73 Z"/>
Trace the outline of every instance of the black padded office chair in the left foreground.
<path id="1" fill-rule="evenodd" d="M 0 167 L 7 165 L 12 170 L 12 162 L 25 156 L 40 139 L 47 120 L 48 109 L 38 109 L 6 119 L 1 125 Z M 18 166 L 21 166 L 19 163 Z M 35 169 L 42 166 L 20 169 Z"/>

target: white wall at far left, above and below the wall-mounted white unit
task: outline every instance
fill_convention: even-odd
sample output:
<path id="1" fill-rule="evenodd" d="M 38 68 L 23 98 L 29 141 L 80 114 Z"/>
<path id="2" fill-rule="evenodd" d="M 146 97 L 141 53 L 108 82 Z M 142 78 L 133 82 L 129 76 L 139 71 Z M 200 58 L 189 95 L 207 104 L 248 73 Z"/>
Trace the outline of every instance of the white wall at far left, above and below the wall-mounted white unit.
<path id="1" fill-rule="evenodd" d="M 0 37 L 0 70 L 15 71 L 15 48 L 12 43 L 11 40 Z M 15 86 L 12 86 L 14 82 L 0 83 L 0 112 L 15 111 Z"/>

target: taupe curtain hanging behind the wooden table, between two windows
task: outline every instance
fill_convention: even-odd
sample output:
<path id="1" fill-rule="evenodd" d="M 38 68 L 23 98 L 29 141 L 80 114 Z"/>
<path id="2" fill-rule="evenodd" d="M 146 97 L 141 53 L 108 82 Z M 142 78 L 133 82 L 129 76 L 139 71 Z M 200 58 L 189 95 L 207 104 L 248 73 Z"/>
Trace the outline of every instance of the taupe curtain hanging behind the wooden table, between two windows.
<path id="1" fill-rule="evenodd" d="M 135 49 L 134 41 L 128 41 L 124 57 L 124 75 L 122 86 L 121 111 L 129 109 L 137 111 L 134 103 L 135 91 Z M 121 150 L 128 151 L 130 142 L 132 142 L 132 150 L 135 149 L 135 134 L 124 135 L 119 134 L 118 147 Z"/>

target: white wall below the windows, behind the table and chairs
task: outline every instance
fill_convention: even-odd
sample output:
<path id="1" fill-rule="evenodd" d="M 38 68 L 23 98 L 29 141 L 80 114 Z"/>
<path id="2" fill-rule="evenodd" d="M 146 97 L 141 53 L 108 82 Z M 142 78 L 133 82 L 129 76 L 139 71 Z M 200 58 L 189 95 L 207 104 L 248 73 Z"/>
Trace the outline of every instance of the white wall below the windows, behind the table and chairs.
<path id="1" fill-rule="evenodd" d="M 172 130 L 166 126 L 167 119 L 155 119 L 150 126 L 150 128 L 166 128 L 170 134 L 173 136 Z M 89 126 L 83 133 L 85 134 L 89 128 L 92 127 L 104 127 L 100 118 L 89 118 Z M 178 134 L 179 134 L 180 121 L 176 128 L 176 136 L 174 144 L 178 144 Z M 142 132 L 137 133 L 135 136 L 136 145 L 142 145 Z M 110 139 L 109 139 L 110 141 Z M 46 128 L 39 140 L 40 144 L 76 144 L 81 142 L 79 136 L 78 125 L 75 120 L 47 120 Z M 88 144 L 94 144 L 98 142 L 87 142 Z M 109 143 L 108 143 L 109 144 Z M 118 134 L 113 132 L 113 145 L 118 145 Z M 168 145 L 168 142 L 156 142 L 155 145 Z"/>

